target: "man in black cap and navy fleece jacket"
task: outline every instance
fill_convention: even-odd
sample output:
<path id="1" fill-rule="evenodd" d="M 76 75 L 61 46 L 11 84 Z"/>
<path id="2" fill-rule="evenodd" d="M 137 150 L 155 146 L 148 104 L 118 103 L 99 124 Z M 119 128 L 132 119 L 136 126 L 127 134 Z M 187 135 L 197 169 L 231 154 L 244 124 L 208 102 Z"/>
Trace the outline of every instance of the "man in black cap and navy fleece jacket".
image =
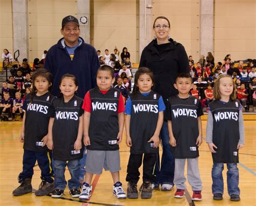
<path id="1" fill-rule="evenodd" d="M 76 17 L 63 18 L 60 32 L 63 38 L 49 49 L 44 63 L 44 67 L 53 75 L 52 94 L 59 95 L 60 79 L 63 74 L 70 73 L 77 78 L 78 96 L 84 98 L 87 91 L 96 87 L 96 72 L 100 67 L 97 52 L 79 37 L 79 22 Z"/>

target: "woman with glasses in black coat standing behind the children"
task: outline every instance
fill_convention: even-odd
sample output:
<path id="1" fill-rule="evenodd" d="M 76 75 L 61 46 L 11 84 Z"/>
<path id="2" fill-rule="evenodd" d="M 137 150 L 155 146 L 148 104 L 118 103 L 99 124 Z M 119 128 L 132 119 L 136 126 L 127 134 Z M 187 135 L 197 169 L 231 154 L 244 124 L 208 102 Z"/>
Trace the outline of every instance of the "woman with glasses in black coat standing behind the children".
<path id="1" fill-rule="evenodd" d="M 147 45 L 140 57 L 139 67 L 148 67 L 154 73 L 154 91 L 158 92 L 167 105 L 167 98 L 178 94 L 174 88 L 179 73 L 190 73 L 188 57 L 184 46 L 169 37 L 170 22 L 166 17 L 154 20 L 155 39 Z M 160 138 L 163 145 L 163 156 L 160 171 L 157 172 L 153 187 L 161 185 L 161 190 L 172 190 L 174 177 L 174 159 L 169 145 L 167 122 L 161 128 Z M 159 161 L 158 168 L 159 170 Z"/>

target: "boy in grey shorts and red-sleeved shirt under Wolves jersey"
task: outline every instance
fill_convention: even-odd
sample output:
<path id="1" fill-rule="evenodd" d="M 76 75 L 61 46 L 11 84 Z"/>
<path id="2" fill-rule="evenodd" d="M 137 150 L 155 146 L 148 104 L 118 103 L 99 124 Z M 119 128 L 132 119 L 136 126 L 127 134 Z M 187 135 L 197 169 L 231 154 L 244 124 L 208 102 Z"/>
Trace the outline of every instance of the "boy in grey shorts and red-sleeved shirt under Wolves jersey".
<path id="1" fill-rule="evenodd" d="M 120 91 L 111 87 L 114 70 L 104 65 L 97 71 L 97 86 L 84 98 L 84 145 L 87 148 L 85 182 L 79 200 L 89 200 L 93 174 L 109 170 L 113 178 L 113 195 L 126 198 L 119 182 L 119 143 L 124 128 L 124 101 Z"/>

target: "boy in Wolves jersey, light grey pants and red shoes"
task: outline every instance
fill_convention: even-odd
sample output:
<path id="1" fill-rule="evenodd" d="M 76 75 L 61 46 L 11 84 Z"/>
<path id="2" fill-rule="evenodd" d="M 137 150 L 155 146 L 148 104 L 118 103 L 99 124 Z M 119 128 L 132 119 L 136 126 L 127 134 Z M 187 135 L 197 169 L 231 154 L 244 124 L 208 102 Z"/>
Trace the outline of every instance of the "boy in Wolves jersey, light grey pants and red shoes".
<path id="1" fill-rule="evenodd" d="M 187 160 L 187 178 L 192 186 L 192 200 L 201 201 L 202 182 L 199 174 L 198 147 L 202 143 L 203 115 L 200 100 L 188 94 L 192 87 L 190 74 L 180 73 L 174 87 L 179 94 L 169 98 L 166 119 L 170 145 L 175 157 L 174 184 L 176 198 L 183 198 L 186 190 L 184 167 Z"/>

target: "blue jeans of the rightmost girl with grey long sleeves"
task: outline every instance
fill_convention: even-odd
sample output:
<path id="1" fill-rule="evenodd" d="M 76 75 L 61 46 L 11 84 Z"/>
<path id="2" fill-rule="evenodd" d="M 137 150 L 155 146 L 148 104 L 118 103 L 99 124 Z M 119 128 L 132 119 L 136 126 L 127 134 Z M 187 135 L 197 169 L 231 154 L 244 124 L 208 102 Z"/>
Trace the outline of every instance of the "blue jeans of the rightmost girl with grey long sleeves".
<path id="1" fill-rule="evenodd" d="M 223 163 L 214 163 L 212 167 L 212 193 L 223 194 L 224 192 L 224 181 L 223 181 Z M 239 173 L 237 163 L 227 163 L 227 190 L 228 195 L 240 195 Z"/>

